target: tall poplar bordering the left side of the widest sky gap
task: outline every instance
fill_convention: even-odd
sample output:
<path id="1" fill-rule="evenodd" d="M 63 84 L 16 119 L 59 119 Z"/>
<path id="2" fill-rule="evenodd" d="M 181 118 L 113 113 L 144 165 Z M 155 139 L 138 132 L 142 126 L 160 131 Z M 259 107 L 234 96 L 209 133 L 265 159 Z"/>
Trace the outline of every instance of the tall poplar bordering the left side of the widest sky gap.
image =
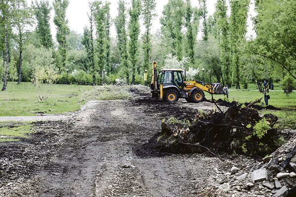
<path id="1" fill-rule="evenodd" d="M 67 57 L 67 35 L 70 34 L 68 27 L 68 19 L 66 19 L 66 10 L 69 5 L 69 0 L 54 0 L 55 16 L 53 18 L 54 24 L 57 26 L 57 41 L 59 43 L 59 52 L 62 56 L 62 65 L 66 67 Z"/>

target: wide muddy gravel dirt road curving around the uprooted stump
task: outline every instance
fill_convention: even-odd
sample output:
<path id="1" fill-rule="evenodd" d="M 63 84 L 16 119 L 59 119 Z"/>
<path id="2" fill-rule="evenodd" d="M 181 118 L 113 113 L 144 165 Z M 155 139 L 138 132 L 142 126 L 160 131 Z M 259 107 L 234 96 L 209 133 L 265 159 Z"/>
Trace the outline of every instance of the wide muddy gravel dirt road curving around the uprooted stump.
<path id="1" fill-rule="evenodd" d="M 40 123 L 26 145 L 34 153 L 27 160 L 35 158 L 34 164 L 27 162 L 31 171 L 2 196 L 207 196 L 217 189 L 208 188 L 212 178 L 217 171 L 229 170 L 231 162 L 203 154 L 158 153 L 143 146 L 161 130 L 163 118 L 190 117 L 201 107 L 215 108 L 208 102 L 192 105 L 182 100 L 89 101 L 68 123 Z"/>

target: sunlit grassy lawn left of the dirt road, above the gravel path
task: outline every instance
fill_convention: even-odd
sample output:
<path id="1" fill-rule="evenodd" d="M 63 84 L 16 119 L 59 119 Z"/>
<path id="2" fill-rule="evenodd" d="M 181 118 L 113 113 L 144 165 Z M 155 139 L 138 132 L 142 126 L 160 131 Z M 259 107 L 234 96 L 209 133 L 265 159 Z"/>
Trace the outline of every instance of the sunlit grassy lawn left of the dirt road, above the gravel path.
<path id="1" fill-rule="evenodd" d="M 75 111 L 85 103 L 81 98 L 92 89 L 93 86 L 53 85 L 49 99 L 40 101 L 34 84 L 22 82 L 21 85 L 13 85 L 8 82 L 6 91 L 0 91 L 0 116 L 34 116 L 38 112 L 59 114 Z"/>

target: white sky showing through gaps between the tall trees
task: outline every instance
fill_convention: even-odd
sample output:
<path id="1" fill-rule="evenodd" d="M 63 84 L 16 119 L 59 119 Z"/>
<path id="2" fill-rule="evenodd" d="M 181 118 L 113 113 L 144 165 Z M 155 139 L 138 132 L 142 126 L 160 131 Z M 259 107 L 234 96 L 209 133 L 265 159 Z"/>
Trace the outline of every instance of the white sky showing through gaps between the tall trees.
<path id="1" fill-rule="evenodd" d="M 37 0 L 38 2 L 40 2 L 40 0 Z M 71 31 L 75 31 L 79 34 L 83 34 L 83 28 L 85 26 L 88 26 L 88 16 L 87 16 L 87 12 L 89 12 L 89 1 L 91 0 L 69 0 L 69 6 L 67 9 L 67 13 L 66 13 L 66 17 L 69 21 L 69 27 Z M 105 1 L 105 0 L 103 0 Z M 111 2 L 110 5 L 110 9 L 111 9 L 111 17 L 115 18 L 118 13 L 117 13 L 117 7 L 118 7 L 118 0 L 107 0 L 109 2 Z M 155 33 L 157 31 L 157 29 L 160 29 L 160 23 L 159 23 L 159 18 L 162 15 L 162 10 L 163 10 L 163 6 L 165 4 L 168 3 L 169 0 L 156 0 L 156 11 L 155 13 L 157 14 L 157 17 L 155 17 L 153 23 L 152 23 L 152 33 Z M 229 0 L 227 0 L 229 1 Z M 27 0 L 28 5 L 31 5 L 32 0 Z M 53 0 L 49 0 L 49 2 L 53 3 Z M 127 8 L 129 8 L 131 6 L 131 0 L 126 0 L 127 2 Z M 207 8 L 208 8 L 208 16 L 209 15 L 213 15 L 215 12 L 215 4 L 216 4 L 217 0 L 207 0 Z M 191 3 L 193 6 L 199 6 L 198 4 L 198 0 L 191 0 Z M 254 0 L 251 0 L 251 5 L 250 5 L 250 11 L 249 11 L 249 17 L 248 17 L 248 33 L 247 36 L 250 35 L 255 35 L 252 26 L 252 21 L 251 21 L 251 16 L 255 15 L 255 11 L 254 11 Z M 229 3 L 228 3 L 228 9 L 229 9 Z M 230 12 L 228 12 L 229 14 Z M 53 15 L 54 15 L 54 11 L 52 9 L 51 11 L 51 33 L 53 38 L 55 39 L 55 35 L 56 35 L 56 28 L 55 25 L 53 24 Z M 144 27 L 142 26 L 141 28 L 142 31 L 144 31 Z M 114 25 L 112 25 L 111 27 L 111 36 L 112 37 L 116 37 L 116 31 L 115 31 L 115 27 Z M 199 33 L 198 37 L 201 37 L 201 33 Z"/>

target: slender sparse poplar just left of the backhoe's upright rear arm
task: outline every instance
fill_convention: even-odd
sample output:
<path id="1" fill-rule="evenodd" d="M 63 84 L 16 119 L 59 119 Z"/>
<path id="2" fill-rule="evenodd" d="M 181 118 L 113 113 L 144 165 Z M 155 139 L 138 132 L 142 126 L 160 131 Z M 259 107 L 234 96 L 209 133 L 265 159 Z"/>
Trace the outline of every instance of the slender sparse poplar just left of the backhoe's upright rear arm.
<path id="1" fill-rule="evenodd" d="M 156 16 L 155 13 L 155 0 L 143 0 L 143 10 L 142 10 L 142 17 L 144 20 L 145 32 L 142 35 L 143 41 L 143 51 L 144 51 L 144 69 L 149 68 L 151 64 L 151 26 L 152 20 Z"/>

